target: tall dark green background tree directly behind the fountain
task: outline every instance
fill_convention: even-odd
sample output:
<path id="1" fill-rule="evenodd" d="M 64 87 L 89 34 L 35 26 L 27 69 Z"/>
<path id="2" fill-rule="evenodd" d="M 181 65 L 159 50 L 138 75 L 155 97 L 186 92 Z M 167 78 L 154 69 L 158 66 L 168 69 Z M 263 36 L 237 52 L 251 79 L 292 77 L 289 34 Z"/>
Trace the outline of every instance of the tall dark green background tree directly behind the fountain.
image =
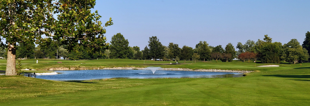
<path id="1" fill-rule="evenodd" d="M 162 45 L 161 42 L 159 42 L 159 39 L 155 36 L 152 36 L 149 38 L 150 40 L 148 41 L 148 47 L 149 47 L 149 55 L 151 58 L 154 59 L 154 61 L 157 58 L 162 58 L 164 56 L 164 51 L 165 48 Z"/>

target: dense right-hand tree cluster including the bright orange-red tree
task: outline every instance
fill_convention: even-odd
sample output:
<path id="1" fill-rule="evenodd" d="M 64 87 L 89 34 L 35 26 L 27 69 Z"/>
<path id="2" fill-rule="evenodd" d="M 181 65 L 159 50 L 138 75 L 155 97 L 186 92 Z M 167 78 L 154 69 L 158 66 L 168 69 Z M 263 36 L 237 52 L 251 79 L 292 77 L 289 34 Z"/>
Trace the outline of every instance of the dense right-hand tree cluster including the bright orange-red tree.
<path id="1" fill-rule="evenodd" d="M 297 63 L 297 60 L 309 59 L 308 50 L 303 48 L 297 39 L 291 39 L 290 42 L 282 45 L 281 42 L 272 42 L 272 38 L 268 35 L 264 36 L 263 40 L 258 39 L 256 43 L 248 40 L 242 45 L 241 42 L 238 42 L 238 58 L 241 60 L 259 59 L 262 63 L 280 63 L 281 60 Z M 310 36 L 309 32 L 306 33 L 307 36 Z"/>

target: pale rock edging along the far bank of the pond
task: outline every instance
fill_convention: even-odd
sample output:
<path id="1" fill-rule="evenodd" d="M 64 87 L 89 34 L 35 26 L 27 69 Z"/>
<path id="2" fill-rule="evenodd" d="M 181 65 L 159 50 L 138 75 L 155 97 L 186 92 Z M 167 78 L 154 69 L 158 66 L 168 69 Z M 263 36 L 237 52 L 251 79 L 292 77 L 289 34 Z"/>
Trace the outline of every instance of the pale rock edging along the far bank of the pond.
<path id="1" fill-rule="evenodd" d="M 146 68 L 134 68 L 134 67 L 114 67 L 114 68 L 102 68 L 102 69 L 138 69 L 143 70 Z M 197 71 L 197 72 L 228 72 L 228 73 L 251 73 L 255 71 L 237 71 L 237 70 L 220 70 L 220 69 L 189 69 L 189 68 L 159 68 L 158 70 L 172 70 L 172 71 Z"/>

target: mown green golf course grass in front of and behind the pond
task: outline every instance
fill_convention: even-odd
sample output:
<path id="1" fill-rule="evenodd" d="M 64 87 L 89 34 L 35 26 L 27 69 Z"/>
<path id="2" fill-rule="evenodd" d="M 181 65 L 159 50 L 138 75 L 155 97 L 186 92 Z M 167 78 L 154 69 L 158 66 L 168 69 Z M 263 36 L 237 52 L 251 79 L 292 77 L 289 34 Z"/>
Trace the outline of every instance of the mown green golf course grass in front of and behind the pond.
<path id="1" fill-rule="evenodd" d="M 69 63 L 69 60 L 63 61 L 68 61 L 68 64 L 61 65 L 74 64 Z M 280 67 L 255 68 L 255 63 L 246 63 L 241 61 L 229 63 L 215 63 L 214 61 L 197 62 L 196 64 L 181 65 L 141 65 L 143 64 L 143 60 L 118 59 L 80 60 L 78 62 L 85 63 L 80 67 L 158 66 L 163 68 L 255 70 L 256 72 L 247 73 L 246 77 L 237 78 L 103 79 L 75 82 L 51 81 L 22 76 L 0 76 L 1 106 L 305 106 L 310 103 L 309 63 L 303 63 L 302 65 L 275 64 L 280 65 Z M 146 63 L 156 64 L 170 62 L 146 61 Z M 188 63 L 190 62 L 188 61 Z M 259 66 L 270 64 L 256 65 Z M 37 64 L 33 64 L 29 67 L 38 66 L 39 65 Z M 43 67 L 51 66 L 44 65 Z"/>

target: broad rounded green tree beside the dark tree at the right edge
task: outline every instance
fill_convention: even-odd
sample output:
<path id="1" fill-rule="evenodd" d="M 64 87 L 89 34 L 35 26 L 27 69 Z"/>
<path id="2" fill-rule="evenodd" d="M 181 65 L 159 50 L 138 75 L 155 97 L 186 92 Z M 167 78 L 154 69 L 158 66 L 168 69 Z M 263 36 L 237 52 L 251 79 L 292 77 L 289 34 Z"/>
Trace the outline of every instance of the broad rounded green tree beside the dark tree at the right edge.
<path id="1" fill-rule="evenodd" d="M 294 62 L 295 60 L 308 60 L 308 51 L 303 48 L 297 39 L 291 39 L 290 42 L 283 45 L 282 60 Z M 296 64 L 294 62 L 294 64 Z"/>

